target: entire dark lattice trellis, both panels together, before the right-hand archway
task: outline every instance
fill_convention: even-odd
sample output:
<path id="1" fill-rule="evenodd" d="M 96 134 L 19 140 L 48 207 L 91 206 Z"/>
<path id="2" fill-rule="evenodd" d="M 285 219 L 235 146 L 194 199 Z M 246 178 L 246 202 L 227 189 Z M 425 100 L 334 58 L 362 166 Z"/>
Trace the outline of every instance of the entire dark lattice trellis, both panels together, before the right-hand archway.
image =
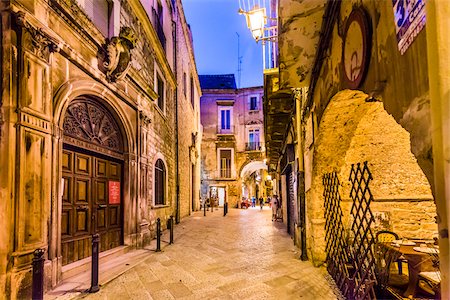
<path id="1" fill-rule="evenodd" d="M 323 176 L 325 199 L 325 230 L 328 271 L 347 299 L 375 299 L 375 239 L 371 230 L 374 222 L 370 203 L 373 200 L 369 183 L 372 174 L 367 162 L 352 164 L 349 181 L 352 242 L 346 242 L 340 207 L 339 179 L 336 172 Z"/>

